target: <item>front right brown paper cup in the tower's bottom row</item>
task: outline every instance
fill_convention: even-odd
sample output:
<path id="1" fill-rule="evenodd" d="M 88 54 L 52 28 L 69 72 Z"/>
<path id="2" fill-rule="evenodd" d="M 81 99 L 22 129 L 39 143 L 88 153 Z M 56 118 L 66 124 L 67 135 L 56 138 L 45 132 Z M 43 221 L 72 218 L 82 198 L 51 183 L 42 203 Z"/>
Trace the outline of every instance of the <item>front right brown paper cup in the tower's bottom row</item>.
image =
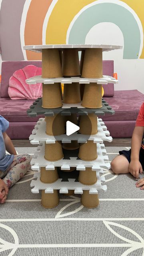
<path id="1" fill-rule="evenodd" d="M 98 194 L 89 194 L 89 190 L 83 190 L 81 203 L 86 208 L 95 208 L 99 204 Z"/>

